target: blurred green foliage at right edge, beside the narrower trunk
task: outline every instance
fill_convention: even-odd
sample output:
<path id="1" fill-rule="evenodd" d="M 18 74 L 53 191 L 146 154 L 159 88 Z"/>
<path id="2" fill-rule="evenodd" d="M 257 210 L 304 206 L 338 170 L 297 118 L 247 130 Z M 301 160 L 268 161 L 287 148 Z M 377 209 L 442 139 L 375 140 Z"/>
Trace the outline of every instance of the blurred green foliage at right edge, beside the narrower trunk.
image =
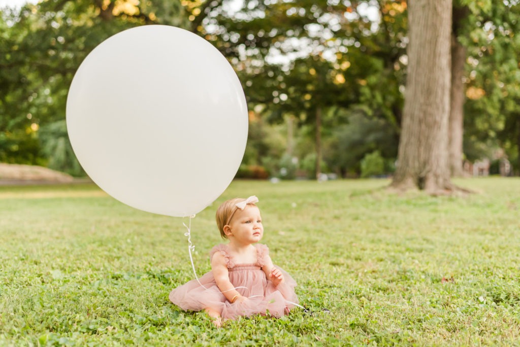
<path id="1" fill-rule="evenodd" d="M 520 3 L 468 6 L 467 33 L 459 36 L 467 47 L 464 152 L 478 159 L 503 150 L 520 175 Z"/>

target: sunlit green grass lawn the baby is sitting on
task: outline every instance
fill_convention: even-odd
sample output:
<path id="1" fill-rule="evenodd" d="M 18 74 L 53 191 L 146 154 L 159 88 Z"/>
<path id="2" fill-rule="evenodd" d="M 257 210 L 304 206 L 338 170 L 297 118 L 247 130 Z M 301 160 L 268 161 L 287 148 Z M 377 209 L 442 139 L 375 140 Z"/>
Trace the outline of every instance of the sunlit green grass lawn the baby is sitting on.
<path id="1" fill-rule="evenodd" d="M 255 194 L 262 242 L 314 313 L 220 329 L 168 302 L 193 278 L 187 219 L 94 185 L 0 187 L 0 345 L 516 344 L 520 180 L 456 181 L 466 197 L 388 183 L 233 182 L 192 220 L 198 274 L 222 242 L 218 204 Z"/>

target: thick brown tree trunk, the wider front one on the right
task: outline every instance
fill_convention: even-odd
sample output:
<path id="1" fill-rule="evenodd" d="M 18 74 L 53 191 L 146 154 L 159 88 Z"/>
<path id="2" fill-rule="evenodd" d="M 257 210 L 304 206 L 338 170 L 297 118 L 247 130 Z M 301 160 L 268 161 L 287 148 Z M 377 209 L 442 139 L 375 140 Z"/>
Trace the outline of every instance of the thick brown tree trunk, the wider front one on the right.
<path id="1" fill-rule="evenodd" d="M 448 161 L 452 0 L 410 0 L 408 75 L 392 186 L 453 188 Z"/>

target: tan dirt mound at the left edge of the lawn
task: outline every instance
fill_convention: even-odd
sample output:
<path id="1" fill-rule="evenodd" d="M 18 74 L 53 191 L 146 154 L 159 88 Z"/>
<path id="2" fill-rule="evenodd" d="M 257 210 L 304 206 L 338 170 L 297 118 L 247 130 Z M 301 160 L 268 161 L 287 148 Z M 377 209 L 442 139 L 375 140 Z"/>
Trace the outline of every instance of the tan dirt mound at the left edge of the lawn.
<path id="1" fill-rule="evenodd" d="M 4 184 L 70 183 L 73 181 L 72 176 L 43 166 L 0 163 L 0 182 Z"/>

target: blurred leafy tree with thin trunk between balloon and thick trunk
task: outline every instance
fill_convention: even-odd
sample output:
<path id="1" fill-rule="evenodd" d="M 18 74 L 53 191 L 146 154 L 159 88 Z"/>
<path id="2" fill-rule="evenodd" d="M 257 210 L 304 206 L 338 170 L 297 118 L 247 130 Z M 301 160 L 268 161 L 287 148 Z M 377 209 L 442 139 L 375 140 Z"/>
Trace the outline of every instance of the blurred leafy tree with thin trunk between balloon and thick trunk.
<path id="1" fill-rule="evenodd" d="M 250 105 L 266 105 L 270 122 L 289 114 L 314 126 L 317 175 L 322 135 L 337 125 L 323 119 L 331 108 L 368 104 L 370 116 L 399 128 L 405 1 L 208 1 L 192 8 L 197 31 L 236 66 Z"/>

